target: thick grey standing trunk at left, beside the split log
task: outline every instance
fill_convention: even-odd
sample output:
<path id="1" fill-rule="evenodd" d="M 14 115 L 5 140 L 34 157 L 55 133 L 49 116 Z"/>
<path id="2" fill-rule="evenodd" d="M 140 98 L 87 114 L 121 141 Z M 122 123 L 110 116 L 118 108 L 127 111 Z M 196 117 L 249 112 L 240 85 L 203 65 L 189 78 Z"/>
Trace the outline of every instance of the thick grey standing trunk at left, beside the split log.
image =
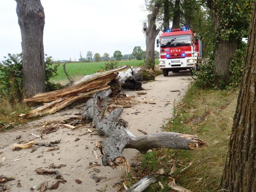
<path id="1" fill-rule="evenodd" d="M 27 96 L 45 92 L 44 8 L 40 0 L 16 0 L 21 31 L 23 89 Z"/>

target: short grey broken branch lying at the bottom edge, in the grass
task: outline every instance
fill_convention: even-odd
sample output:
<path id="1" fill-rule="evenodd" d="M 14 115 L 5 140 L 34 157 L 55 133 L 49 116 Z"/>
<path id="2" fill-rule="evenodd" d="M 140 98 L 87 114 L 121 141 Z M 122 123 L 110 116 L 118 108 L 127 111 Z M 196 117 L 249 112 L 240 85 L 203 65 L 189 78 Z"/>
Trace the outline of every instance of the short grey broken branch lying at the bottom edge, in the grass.
<path id="1" fill-rule="evenodd" d="M 161 177 L 161 176 L 164 176 L 164 170 L 160 170 L 160 171 L 150 174 L 146 177 L 143 177 L 141 180 L 139 180 L 137 183 L 132 185 L 132 187 L 127 189 L 125 192 L 145 191 L 151 184 L 156 183 L 158 181 L 159 177 Z"/>

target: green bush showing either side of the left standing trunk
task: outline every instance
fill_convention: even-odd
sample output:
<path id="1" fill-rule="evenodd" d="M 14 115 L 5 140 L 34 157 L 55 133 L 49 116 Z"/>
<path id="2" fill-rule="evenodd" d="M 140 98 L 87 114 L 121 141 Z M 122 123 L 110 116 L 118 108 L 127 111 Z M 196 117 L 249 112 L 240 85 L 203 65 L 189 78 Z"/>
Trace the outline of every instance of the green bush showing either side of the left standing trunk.
<path id="1" fill-rule="evenodd" d="M 58 65 L 52 67 L 52 57 L 45 54 L 45 83 L 46 90 L 57 88 L 50 78 L 57 75 Z M 0 65 L 0 98 L 9 98 L 10 102 L 23 98 L 22 90 L 22 54 L 8 54 Z"/>

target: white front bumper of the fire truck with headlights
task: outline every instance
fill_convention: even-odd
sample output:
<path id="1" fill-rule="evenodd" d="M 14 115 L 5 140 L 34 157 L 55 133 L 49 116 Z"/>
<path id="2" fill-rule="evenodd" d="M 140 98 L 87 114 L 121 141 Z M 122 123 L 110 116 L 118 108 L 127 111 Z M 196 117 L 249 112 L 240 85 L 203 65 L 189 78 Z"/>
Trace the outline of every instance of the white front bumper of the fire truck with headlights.
<path id="1" fill-rule="evenodd" d="M 193 61 L 188 62 L 188 60 L 191 60 L 191 61 L 193 60 Z M 172 71 L 172 69 L 186 70 L 186 69 L 194 68 L 195 64 L 196 64 L 196 59 L 194 57 L 159 59 L 158 61 L 159 69 L 168 69 L 169 71 Z"/>

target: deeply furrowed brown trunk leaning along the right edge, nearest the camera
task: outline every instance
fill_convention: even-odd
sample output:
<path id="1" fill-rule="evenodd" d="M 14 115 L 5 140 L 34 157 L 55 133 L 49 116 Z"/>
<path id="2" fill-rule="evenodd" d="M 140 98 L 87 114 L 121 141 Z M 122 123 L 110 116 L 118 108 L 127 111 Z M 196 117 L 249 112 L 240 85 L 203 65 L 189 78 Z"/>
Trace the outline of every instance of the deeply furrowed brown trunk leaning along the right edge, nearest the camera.
<path id="1" fill-rule="evenodd" d="M 222 187 L 256 191 L 256 1 L 249 30 L 244 74 L 237 100 Z"/>

